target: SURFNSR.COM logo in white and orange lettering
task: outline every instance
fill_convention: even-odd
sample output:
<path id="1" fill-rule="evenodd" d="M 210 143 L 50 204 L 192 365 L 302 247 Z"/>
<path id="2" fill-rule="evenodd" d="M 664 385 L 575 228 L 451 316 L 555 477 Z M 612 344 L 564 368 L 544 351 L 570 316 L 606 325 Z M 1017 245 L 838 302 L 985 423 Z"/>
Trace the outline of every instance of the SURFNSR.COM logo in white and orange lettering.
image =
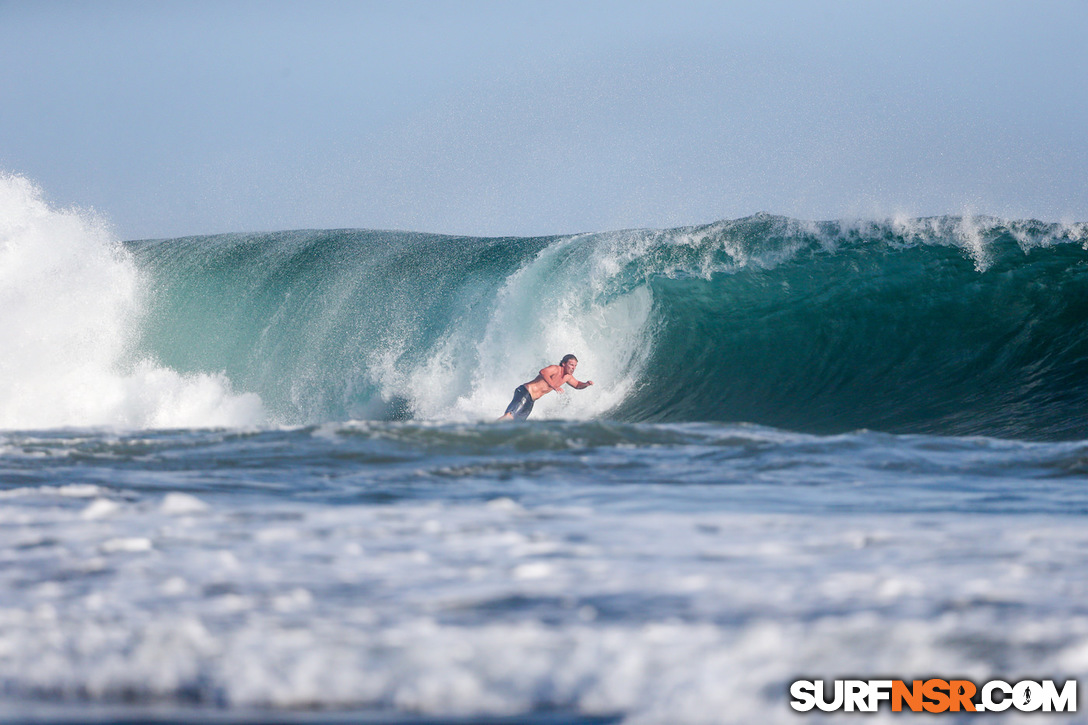
<path id="1" fill-rule="evenodd" d="M 827 687 L 829 685 L 830 687 Z M 888 703 L 892 712 L 1076 712 L 1077 681 L 1061 688 L 1052 679 L 1025 679 L 1015 685 L 992 679 L 981 687 L 967 679 L 799 679 L 790 685 L 790 706 L 800 712 L 876 712 Z"/>

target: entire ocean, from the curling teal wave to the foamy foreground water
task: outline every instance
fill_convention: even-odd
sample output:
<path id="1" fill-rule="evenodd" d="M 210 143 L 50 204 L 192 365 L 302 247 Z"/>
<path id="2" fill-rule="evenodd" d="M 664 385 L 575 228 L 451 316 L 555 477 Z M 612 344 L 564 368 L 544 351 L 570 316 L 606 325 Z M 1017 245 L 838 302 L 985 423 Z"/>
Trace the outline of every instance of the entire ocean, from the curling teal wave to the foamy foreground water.
<path id="1" fill-rule="evenodd" d="M 567 353 L 592 388 L 495 422 Z M 1085 223 L 121 241 L 0 179 L 5 722 L 1083 678 L 1086 482 Z"/>

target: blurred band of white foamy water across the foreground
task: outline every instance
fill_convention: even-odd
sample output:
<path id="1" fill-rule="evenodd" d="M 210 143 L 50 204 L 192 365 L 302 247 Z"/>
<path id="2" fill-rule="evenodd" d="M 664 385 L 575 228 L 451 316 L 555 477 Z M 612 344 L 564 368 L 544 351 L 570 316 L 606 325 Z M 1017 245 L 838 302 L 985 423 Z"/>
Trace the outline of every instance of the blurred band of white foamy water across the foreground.
<path id="1" fill-rule="evenodd" d="M 0 595 L 9 697 L 787 723 L 801 676 L 1088 663 L 1073 519 L 242 511 L 27 508 L 36 542 L 0 532 L 5 581 L 46 581 Z M 260 536 L 287 514 L 294 536 Z"/>

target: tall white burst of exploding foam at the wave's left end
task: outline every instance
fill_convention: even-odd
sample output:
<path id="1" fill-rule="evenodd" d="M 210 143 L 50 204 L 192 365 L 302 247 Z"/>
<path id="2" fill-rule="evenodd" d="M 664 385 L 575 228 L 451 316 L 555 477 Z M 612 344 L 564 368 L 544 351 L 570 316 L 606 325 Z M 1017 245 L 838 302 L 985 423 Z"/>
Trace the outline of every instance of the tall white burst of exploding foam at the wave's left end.
<path id="1" fill-rule="evenodd" d="M 251 425 L 260 398 L 134 349 L 145 290 L 94 213 L 0 175 L 0 428 Z"/>

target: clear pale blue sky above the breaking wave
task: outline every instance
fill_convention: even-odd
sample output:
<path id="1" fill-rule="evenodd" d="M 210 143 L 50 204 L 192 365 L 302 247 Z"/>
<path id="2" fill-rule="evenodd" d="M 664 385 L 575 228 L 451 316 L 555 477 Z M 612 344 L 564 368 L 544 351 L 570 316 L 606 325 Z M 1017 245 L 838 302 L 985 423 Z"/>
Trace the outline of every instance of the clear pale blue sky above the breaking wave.
<path id="1" fill-rule="evenodd" d="M 121 238 L 1086 221 L 1086 30 L 1084 0 L 0 0 L 0 173 Z"/>

